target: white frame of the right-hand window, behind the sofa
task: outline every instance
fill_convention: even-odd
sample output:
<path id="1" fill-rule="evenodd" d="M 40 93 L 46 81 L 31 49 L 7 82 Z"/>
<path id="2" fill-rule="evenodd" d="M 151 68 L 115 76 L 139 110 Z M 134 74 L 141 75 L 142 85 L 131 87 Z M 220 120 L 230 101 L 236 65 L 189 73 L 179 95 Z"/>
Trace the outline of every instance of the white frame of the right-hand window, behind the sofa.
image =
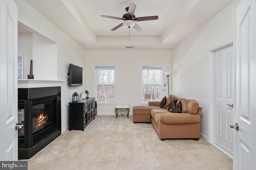
<path id="1" fill-rule="evenodd" d="M 140 101 L 141 101 L 141 103 L 140 104 L 142 104 L 142 105 L 146 105 L 146 104 L 148 104 L 148 102 L 143 102 L 143 67 L 161 67 L 161 72 L 162 73 L 160 73 L 160 95 L 159 95 L 159 99 L 160 99 L 160 101 L 161 101 L 161 99 L 162 99 L 162 79 L 163 79 L 163 76 L 162 76 L 162 74 L 163 74 L 163 65 L 162 64 L 142 64 L 141 65 L 141 73 L 140 73 L 140 75 L 141 75 L 141 93 L 140 93 Z"/>

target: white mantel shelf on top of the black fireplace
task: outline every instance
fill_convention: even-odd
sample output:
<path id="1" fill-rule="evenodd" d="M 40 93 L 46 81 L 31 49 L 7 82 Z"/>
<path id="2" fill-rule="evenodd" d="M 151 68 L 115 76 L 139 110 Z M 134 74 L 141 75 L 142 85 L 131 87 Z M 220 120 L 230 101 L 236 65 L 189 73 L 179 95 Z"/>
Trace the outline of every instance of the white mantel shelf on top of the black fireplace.
<path id="1" fill-rule="evenodd" d="M 64 81 L 18 79 L 18 88 L 60 87 Z"/>

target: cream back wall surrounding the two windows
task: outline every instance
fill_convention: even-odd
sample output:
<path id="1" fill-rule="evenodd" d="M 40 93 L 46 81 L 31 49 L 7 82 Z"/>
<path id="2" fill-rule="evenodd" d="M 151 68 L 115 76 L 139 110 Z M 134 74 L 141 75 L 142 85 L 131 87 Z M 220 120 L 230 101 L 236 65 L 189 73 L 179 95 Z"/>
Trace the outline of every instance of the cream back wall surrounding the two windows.
<path id="1" fill-rule="evenodd" d="M 170 49 L 87 49 L 86 50 L 86 90 L 90 97 L 94 93 L 94 65 L 116 65 L 116 103 L 119 105 L 140 105 L 141 99 L 141 65 L 162 64 L 163 72 L 171 70 Z M 163 83 L 167 77 L 163 74 Z M 168 89 L 163 90 L 168 96 Z M 170 92 L 171 94 L 171 92 Z M 97 105 L 98 115 L 115 115 L 114 105 Z M 130 114 L 132 115 L 132 107 Z"/>

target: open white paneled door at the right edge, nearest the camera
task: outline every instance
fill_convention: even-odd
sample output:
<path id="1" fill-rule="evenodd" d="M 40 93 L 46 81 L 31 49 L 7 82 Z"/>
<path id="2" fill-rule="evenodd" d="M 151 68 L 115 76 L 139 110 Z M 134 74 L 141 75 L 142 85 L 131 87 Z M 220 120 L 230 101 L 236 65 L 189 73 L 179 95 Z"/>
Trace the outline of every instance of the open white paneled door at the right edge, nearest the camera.
<path id="1" fill-rule="evenodd" d="M 235 103 L 233 168 L 256 168 L 256 0 L 241 0 L 234 12 Z"/>

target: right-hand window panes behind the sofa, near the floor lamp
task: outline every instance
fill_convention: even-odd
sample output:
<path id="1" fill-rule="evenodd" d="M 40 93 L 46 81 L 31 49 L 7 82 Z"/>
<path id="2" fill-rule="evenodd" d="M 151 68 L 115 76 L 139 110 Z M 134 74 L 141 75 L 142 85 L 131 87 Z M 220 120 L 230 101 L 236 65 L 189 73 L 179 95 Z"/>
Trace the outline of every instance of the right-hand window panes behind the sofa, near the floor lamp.
<path id="1" fill-rule="evenodd" d="M 162 65 L 142 65 L 142 103 L 161 101 Z"/>

